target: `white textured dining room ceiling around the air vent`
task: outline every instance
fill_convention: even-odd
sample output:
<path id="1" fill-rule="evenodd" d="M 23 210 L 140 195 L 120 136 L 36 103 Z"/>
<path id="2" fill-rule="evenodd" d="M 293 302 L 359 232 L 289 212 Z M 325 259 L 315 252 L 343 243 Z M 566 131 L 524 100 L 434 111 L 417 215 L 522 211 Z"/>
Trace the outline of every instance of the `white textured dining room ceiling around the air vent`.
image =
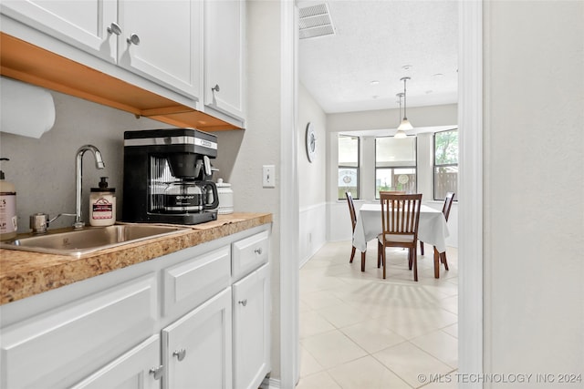
<path id="1" fill-rule="evenodd" d="M 407 107 L 457 101 L 456 1 L 299 1 L 298 7 L 322 3 L 335 34 L 301 39 L 298 67 L 325 112 L 399 107 L 401 77 L 412 78 Z"/>

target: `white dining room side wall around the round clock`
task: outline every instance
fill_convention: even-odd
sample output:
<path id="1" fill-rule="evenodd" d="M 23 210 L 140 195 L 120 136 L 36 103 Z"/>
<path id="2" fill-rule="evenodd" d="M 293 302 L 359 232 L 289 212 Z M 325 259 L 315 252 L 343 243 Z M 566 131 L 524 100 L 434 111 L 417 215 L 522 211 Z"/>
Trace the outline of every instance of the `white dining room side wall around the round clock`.
<path id="1" fill-rule="evenodd" d="M 312 162 L 306 151 L 306 128 L 312 124 L 317 153 Z M 326 166 L 327 116 L 300 84 L 298 86 L 298 202 L 300 205 L 299 265 L 304 264 L 327 241 Z"/>

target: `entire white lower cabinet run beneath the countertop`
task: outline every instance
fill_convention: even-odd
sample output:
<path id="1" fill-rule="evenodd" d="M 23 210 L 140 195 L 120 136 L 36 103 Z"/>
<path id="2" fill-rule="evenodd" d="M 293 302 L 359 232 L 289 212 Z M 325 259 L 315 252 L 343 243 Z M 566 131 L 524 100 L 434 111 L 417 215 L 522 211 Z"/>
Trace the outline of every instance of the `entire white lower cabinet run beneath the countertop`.
<path id="1" fill-rule="evenodd" d="M 1 305 L 0 389 L 256 389 L 268 251 L 263 225 Z"/>

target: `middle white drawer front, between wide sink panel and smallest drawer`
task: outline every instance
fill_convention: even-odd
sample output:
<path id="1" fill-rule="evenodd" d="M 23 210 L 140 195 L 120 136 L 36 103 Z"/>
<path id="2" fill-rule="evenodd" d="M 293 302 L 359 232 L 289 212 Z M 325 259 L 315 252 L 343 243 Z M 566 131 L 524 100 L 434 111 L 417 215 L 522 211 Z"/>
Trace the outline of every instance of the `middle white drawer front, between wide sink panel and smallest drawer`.
<path id="1" fill-rule="evenodd" d="M 230 254 L 225 246 L 165 269 L 164 315 L 193 309 L 229 286 Z"/>

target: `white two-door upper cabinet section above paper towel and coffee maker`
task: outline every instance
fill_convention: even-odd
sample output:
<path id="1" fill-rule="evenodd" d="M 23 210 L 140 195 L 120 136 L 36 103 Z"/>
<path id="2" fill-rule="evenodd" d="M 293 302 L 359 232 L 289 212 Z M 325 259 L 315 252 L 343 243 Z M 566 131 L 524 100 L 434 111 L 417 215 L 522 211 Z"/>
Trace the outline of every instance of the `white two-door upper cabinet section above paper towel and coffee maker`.
<path id="1" fill-rule="evenodd" d="M 203 86 L 203 2 L 199 0 L 3 0 L 1 12 L 32 27 L 21 39 L 54 51 L 36 31 L 68 45 L 57 51 L 94 67 L 75 50 L 117 65 L 107 68 L 126 80 L 120 68 L 175 93 L 199 100 Z M 4 30 L 4 28 L 3 28 Z M 98 64 L 97 68 L 102 70 Z M 133 82 L 130 81 L 130 84 Z"/>

